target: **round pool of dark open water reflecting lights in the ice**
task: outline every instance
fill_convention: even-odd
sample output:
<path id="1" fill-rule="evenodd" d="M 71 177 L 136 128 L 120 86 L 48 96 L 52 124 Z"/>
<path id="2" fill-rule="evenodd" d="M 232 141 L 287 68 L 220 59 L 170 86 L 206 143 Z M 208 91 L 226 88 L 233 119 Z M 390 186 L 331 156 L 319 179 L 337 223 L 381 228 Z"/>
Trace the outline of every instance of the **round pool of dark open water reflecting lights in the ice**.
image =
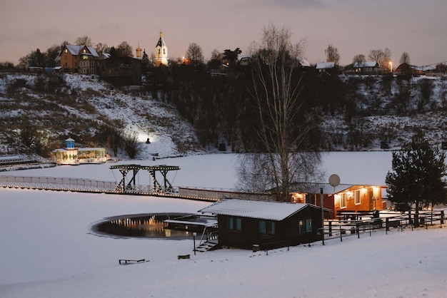
<path id="1" fill-rule="evenodd" d="M 95 225 L 93 230 L 104 234 L 125 237 L 172 237 L 173 239 L 192 237 L 191 231 L 164 229 L 164 220 L 174 219 L 183 215 L 189 215 L 189 213 L 123 215 L 122 217 L 111 217 L 108 221 Z"/>

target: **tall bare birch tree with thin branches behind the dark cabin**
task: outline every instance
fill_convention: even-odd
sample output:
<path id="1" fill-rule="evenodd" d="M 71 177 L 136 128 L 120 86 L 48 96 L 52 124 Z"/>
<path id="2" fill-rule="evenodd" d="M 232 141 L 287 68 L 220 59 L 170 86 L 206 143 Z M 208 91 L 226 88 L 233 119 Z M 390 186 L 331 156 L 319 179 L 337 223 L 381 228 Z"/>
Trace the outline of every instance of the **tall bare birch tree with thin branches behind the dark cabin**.
<path id="1" fill-rule="evenodd" d="M 315 178 L 318 153 L 303 153 L 310 130 L 301 98 L 301 75 L 296 71 L 304 41 L 291 43 L 289 29 L 269 25 L 260 45 L 253 44 L 253 89 L 260 127 L 262 153 L 244 155 L 238 169 L 241 188 L 270 189 L 278 200 L 289 200 L 293 183 Z M 312 166 L 307 167 L 312 160 Z"/>

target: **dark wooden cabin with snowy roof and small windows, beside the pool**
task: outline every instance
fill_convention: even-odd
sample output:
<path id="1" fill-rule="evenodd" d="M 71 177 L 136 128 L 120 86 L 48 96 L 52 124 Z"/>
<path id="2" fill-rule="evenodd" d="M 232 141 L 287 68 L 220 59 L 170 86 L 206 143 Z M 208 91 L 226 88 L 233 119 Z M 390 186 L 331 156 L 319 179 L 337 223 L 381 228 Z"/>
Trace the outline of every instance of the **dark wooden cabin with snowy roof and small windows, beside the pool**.
<path id="1" fill-rule="evenodd" d="M 321 209 L 311 204 L 223 199 L 199 212 L 217 215 L 220 247 L 265 250 L 321 239 Z"/>

